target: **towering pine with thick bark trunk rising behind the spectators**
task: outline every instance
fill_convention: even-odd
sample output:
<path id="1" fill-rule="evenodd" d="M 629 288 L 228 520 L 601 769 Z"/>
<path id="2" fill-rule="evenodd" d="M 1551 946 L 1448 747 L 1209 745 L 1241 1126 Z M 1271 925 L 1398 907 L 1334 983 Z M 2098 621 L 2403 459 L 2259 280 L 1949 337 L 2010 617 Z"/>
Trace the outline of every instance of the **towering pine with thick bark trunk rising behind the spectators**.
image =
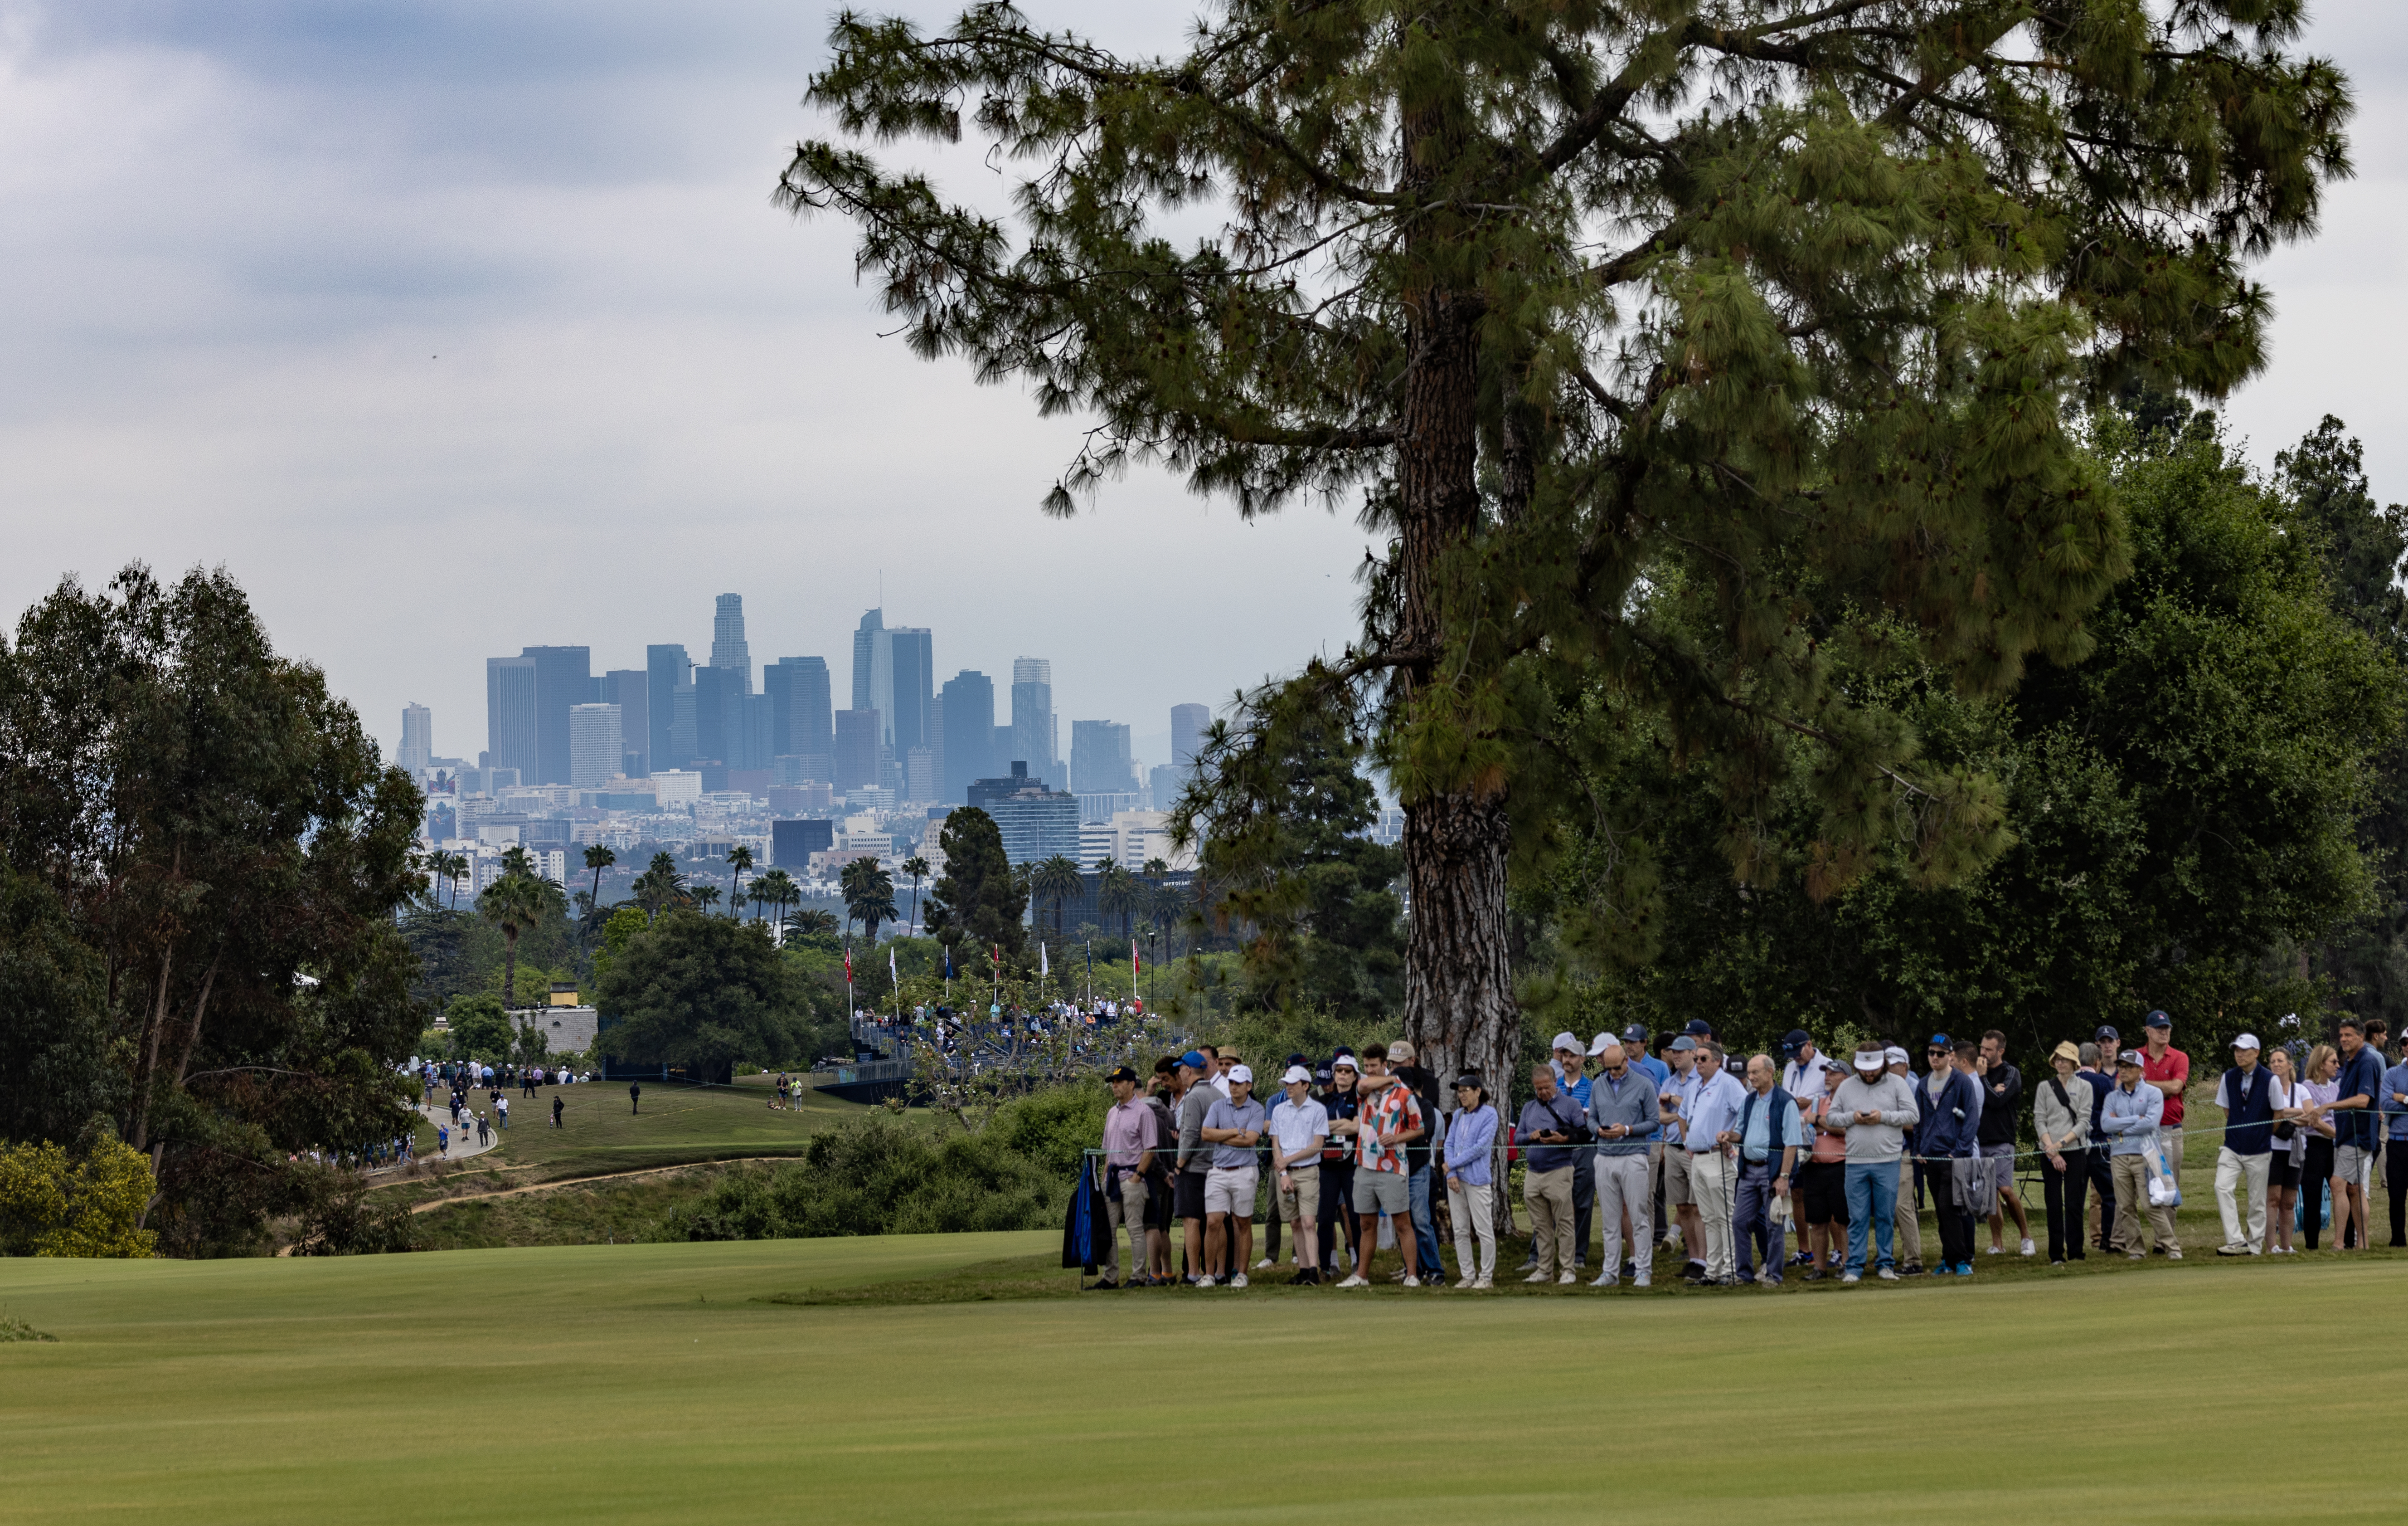
<path id="1" fill-rule="evenodd" d="M 1404 1027 L 1503 1070 L 1507 858 L 1548 846 L 1570 771 L 1524 726 L 1546 692 L 1662 718 L 1739 878 L 1787 851 L 1760 827 L 1792 779 L 1830 880 L 1898 820 L 1929 885 L 2006 846 L 2001 781 L 1832 675 L 1905 648 L 1996 694 L 2088 651 L 2129 550 L 2066 403 L 2261 364 L 2244 258 L 2345 169 L 2348 87 L 2300 27 L 2261 0 L 1230 0 L 1122 58 L 1009 5 L 934 36 L 848 12 L 809 87 L 840 133 L 968 118 L 1031 171 L 1007 222 L 804 142 L 780 198 L 857 224 L 917 354 L 1096 419 L 1050 511 L 1132 463 L 1245 516 L 1361 494 L 1361 641 L 1233 735 L 1358 728 L 1406 812 Z"/>

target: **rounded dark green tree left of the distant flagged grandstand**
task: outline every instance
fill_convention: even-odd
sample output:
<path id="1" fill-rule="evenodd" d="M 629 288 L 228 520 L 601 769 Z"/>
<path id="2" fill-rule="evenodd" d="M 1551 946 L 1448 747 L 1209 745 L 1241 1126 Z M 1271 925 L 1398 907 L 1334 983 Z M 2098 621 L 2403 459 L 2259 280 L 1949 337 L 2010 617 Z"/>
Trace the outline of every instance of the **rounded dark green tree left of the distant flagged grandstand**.
<path id="1" fill-rule="evenodd" d="M 600 1044 L 621 1061 L 718 1073 L 739 1058 L 809 1058 L 768 928 L 669 911 L 628 943 L 595 993 L 612 1027 Z"/>

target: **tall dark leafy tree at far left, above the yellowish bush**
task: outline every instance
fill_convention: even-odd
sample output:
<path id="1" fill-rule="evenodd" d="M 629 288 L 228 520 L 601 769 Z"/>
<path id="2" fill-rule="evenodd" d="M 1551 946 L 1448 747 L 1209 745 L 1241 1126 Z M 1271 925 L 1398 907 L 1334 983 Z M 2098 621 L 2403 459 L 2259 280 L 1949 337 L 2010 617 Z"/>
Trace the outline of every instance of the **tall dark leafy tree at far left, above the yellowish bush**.
<path id="1" fill-rule="evenodd" d="M 0 858 L 108 972 L 84 1063 L 118 1070 L 118 1135 L 157 1160 L 161 1251 L 255 1249 L 311 1210 L 296 1150 L 407 1126 L 421 820 L 224 574 L 67 579 L 0 644 Z"/>

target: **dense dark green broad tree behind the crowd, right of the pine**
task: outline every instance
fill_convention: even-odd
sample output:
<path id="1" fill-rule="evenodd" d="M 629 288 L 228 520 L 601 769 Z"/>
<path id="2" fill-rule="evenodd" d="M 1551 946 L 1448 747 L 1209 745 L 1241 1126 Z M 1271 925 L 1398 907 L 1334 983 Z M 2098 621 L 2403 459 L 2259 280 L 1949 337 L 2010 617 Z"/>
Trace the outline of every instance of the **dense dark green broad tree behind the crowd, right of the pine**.
<path id="1" fill-rule="evenodd" d="M 1857 670 L 1926 755 L 2008 781 L 2013 844 L 1955 887 L 1914 882 L 1902 851 L 1832 885 L 1813 849 L 1780 875 L 1724 870 L 1710 783 L 1674 771 L 1645 718 L 1575 718 L 1630 745 L 1616 827 L 1649 841 L 1652 957 L 1584 996 L 1599 1025 L 1707 1013 L 1739 1041 L 1792 1025 L 1890 1039 L 1999 1027 L 2018 1061 L 2097 1022 L 2131 1032 L 2167 1008 L 2213 1053 L 2316 991 L 2280 950 L 2348 923 L 2372 897 L 2353 822 L 2408 716 L 2401 665 L 2326 595 L 2316 535 L 2278 485 L 2208 432 L 2107 422 L 2102 460 L 2129 513 L 2133 574 L 2090 617 L 2081 663 L 2035 668 L 2013 702 L 1963 697 L 1919 668 Z M 1775 803 L 1811 820 L 1804 788 Z M 1563 865 L 1606 856 L 1592 834 Z M 1623 849 L 1633 851 L 1633 849 Z M 1524 909 L 1580 964 L 1582 885 Z M 1539 991 L 1536 996 L 1548 996 Z"/>

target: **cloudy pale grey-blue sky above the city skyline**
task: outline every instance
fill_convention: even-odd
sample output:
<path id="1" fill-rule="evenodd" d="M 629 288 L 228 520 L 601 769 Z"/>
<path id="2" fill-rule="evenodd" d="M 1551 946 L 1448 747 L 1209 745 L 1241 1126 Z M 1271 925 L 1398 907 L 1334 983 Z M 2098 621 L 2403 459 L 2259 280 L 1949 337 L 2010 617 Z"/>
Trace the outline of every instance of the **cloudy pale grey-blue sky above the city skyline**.
<path id="1" fill-rule="evenodd" d="M 1190 5 L 1026 0 L 1115 46 Z M 1019 386 L 917 362 L 833 219 L 771 205 L 826 58 L 811 0 L 0 0 L 0 612 L 60 574 L 224 564 L 390 747 L 484 745 L 484 658 L 710 646 L 756 663 L 934 629 L 937 673 L 1052 661 L 1134 728 L 1336 651 L 1363 535 L 1134 473 L 1074 521 L 1076 451 Z M 905 5 L 934 17 L 934 5 Z M 2357 176 L 2273 253 L 2273 362 L 2225 415 L 2259 463 L 2341 415 L 2408 499 L 2408 12 L 2324 0 Z M 999 181 L 975 152 L 949 188 Z M 980 188 L 982 186 L 982 188 Z"/>

